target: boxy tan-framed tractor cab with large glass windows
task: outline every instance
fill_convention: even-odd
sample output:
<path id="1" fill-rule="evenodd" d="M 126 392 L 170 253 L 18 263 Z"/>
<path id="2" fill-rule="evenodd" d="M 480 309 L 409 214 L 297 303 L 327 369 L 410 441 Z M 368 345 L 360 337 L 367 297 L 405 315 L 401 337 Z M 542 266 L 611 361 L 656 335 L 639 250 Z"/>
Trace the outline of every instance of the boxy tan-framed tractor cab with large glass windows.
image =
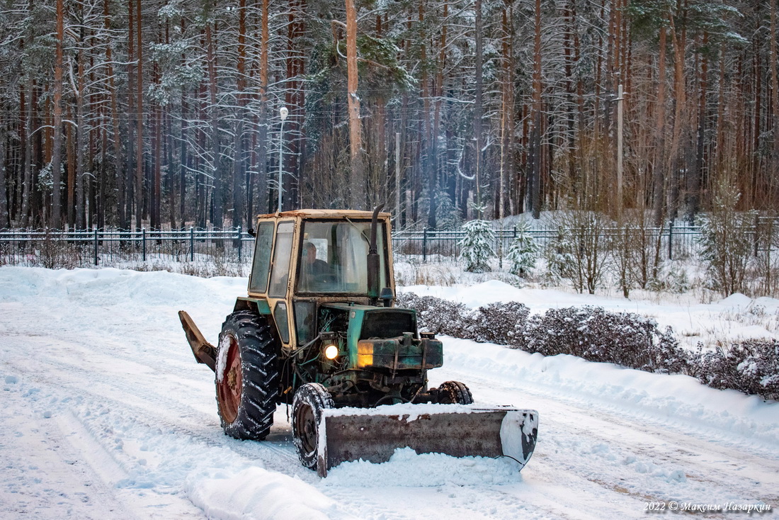
<path id="1" fill-rule="evenodd" d="M 375 304 L 381 288 L 388 305 L 395 292 L 390 214 L 376 215 L 375 232 L 372 217 L 369 211 L 349 210 L 260 215 L 249 297 L 239 299 L 241 305 L 267 305 L 283 347 L 291 350 L 317 335 L 318 304 Z M 366 260 L 371 256 L 378 268 Z"/>

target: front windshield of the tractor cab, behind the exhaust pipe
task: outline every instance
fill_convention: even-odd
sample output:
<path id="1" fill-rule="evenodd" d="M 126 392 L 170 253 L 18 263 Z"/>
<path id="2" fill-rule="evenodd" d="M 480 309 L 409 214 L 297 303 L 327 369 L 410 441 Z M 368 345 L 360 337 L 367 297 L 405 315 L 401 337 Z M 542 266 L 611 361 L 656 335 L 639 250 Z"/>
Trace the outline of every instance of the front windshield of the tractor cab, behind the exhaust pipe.
<path id="1" fill-rule="evenodd" d="M 381 287 L 386 287 L 384 226 L 376 229 Z M 304 222 L 298 292 L 368 293 L 370 221 Z"/>

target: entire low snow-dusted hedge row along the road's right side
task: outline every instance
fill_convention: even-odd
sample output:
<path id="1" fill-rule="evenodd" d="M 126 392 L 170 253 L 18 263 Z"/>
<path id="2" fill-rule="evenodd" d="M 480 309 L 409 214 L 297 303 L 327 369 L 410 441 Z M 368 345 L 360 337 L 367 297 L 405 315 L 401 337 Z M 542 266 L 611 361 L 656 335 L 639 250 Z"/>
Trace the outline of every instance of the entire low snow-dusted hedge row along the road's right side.
<path id="1" fill-rule="evenodd" d="M 520 302 L 471 310 L 462 303 L 400 293 L 397 305 L 416 309 L 419 326 L 436 334 L 509 345 L 545 356 L 570 354 L 589 361 L 656 373 L 686 373 L 714 388 L 779 399 L 779 343 L 747 340 L 696 354 L 679 347 L 671 327 L 602 307 L 550 309 L 528 317 Z"/>

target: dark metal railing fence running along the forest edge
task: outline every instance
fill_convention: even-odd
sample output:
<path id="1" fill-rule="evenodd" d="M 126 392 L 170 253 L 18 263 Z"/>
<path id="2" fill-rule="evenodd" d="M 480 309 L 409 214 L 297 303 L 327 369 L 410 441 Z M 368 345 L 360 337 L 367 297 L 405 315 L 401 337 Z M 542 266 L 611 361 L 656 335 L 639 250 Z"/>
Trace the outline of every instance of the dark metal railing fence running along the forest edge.
<path id="1" fill-rule="evenodd" d="M 663 228 L 643 228 L 625 233 L 618 228 L 596 231 L 603 238 L 632 236 L 659 246 L 669 259 L 696 256 L 700 253 L 700 226 L 675 224 Z M 754 254 L 779 252 L 779 219 L 756 218 L 746 232 L 753 237 Z M 519 231 L 513 228 L 493 229 L 493 250 L 505 256 Z M 562 231 L 557 228 L 531 229 L 528 234 L 541 253 L 554 246 Z M 642 236 L 643 235 L 643 236 Z M 393 253 L 400 257 L 421 257 L 421 261 L 456 259 L 460 255 L 462 230 L 422 229 L 393 232 Z M 659 240 L 659 243 L 657 242 Z M 185 230 L 124 231 L 116 229 L 86 231 L 0 230 L 0 265 L 42 265 L 44 267 L 86 267 L 161 260 L 196 262 L 218 258 L 238 264 L 251 261 L 254 237 L 241 228 Z"/>

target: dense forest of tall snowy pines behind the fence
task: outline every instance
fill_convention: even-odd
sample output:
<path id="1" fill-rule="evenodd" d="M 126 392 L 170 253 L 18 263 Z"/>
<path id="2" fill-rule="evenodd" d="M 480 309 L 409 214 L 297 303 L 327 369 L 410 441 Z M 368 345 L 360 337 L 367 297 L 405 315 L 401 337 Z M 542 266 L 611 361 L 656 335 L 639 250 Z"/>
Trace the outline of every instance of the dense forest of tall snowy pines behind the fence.
<path id="1" fill-rule="evenodd" d="M 777 0 L 0 8 L 0 228 L 779 207 Z"/>

